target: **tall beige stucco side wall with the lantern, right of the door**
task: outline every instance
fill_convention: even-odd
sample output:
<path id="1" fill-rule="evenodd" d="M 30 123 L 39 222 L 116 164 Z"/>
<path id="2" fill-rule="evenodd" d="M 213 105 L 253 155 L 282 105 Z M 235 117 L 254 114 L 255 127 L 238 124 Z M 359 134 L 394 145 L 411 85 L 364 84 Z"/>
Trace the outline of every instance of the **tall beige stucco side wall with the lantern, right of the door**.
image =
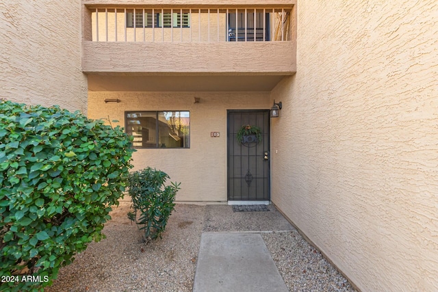
<path id="1" fill-rule="evenodd" d="M 438 291 L 438 3 L 297 7 L 272 200 L 362 291 Z"/>

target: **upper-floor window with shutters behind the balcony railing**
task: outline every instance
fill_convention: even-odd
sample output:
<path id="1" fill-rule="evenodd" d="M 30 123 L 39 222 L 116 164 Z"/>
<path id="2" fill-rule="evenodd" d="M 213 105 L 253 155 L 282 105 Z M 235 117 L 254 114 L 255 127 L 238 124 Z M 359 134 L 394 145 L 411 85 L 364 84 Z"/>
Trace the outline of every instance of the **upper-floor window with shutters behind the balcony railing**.
<path id="1" fill-rule="evenodd" d="M 133 12 L 127 12 L 126 26 L 134 27 Z M 155 13 L 144 12 L 144 27 L 152 27 L 154 22 L 154 27 L 190 27 L 190 14 L 183 13 L 181 18 L 180 12 L 170 13 Z M 143 27 L 143 11 L 136 11 L 136 27 Z"/>

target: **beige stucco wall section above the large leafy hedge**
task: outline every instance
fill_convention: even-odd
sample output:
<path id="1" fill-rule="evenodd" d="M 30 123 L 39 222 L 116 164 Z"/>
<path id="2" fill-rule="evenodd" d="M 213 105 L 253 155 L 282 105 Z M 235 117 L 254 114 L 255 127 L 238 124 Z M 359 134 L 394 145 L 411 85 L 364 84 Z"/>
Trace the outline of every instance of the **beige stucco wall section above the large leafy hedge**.
<path id="1" fill-rule="evenodd" d="M 86 111 L 81 1 L 0 1 L 0 98 Z"/>

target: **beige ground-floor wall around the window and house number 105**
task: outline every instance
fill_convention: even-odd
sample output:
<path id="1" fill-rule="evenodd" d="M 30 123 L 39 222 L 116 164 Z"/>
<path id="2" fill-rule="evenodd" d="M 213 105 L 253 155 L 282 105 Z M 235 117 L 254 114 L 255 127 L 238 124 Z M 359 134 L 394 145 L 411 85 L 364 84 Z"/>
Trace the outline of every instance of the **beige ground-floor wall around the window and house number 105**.
<path id="1" fill-rule="evenodd" d="M 201 98 L 194 103 L 194 97 Z M 120 103 L 105 103 L 118 98 Z M 151 166 L 181 182 L 177 201 L 227 200 L 227 109 L 269 109 L 269 92 L 89 92 L 88 116 L 119 120 L 125 111 L 190 111 L 190 148 L 138 149 L 134 170 Z M 220 137 L 211 137 L 220 132 Z"/>

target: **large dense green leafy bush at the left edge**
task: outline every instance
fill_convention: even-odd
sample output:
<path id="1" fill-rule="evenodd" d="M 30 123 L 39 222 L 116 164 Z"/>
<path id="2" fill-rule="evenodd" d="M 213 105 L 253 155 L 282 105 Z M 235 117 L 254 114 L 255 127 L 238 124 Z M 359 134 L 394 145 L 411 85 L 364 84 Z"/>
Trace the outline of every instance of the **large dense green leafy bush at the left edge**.
<path id="1" fill-rule="evenodd" d="M 0 276 L 12 280 L 1 291 L 51 284 L 74 254 L 104 237 L 132 151 L 120 127 L 57 106 L 0 101 Z"/>

